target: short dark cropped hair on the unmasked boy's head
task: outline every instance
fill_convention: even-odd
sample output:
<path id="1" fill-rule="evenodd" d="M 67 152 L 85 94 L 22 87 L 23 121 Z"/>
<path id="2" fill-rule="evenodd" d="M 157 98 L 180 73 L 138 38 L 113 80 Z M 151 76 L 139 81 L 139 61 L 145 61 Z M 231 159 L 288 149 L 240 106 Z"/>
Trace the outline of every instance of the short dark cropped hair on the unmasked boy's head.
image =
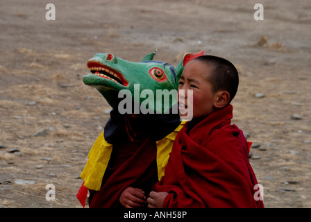
<path id="1" fill-rule="evenodd" d="M 235 66 L 228 60 L 217 56 L 199 56 L 194 60 L 205 63 L 211 69 L 208 81 L 212 84 L 212 91 L 214 93 L 219 90 L 227 91 L 230 94 L 229 104 L 237 94 L 239 85 L 239 75 Z"/>

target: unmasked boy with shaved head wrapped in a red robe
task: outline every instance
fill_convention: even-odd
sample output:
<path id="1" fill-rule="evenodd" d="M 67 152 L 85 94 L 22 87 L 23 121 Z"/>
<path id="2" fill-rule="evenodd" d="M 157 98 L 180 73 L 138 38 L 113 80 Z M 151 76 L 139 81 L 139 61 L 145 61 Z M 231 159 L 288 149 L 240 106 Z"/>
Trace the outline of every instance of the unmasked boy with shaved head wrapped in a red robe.
<path id="1" fill-rule="evenodd" d="M 193 105 L 193 119 L 178 133 L 149 207 L 264 207 L 254 198 L 258 182 L 246 139 L 230 124 L 238 84 L 237 69 L 228 60 L 200 56 L 187 63 L 179 80 L 178 90 L 185 89 L 179 110 Z M 193 90 L 192 104 L 187 89 Z"/>

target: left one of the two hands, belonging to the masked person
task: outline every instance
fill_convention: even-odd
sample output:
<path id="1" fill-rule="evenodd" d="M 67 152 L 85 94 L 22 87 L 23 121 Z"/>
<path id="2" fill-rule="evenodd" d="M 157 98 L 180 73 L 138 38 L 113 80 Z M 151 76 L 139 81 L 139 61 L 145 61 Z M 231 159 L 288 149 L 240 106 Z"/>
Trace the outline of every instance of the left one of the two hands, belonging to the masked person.
<path id="1" fill-rule="evenodd" d="M 146 196 L 142 189 L 128 187 L 122 192 L 119 201 L 126 208 L 144 207 Z"/>

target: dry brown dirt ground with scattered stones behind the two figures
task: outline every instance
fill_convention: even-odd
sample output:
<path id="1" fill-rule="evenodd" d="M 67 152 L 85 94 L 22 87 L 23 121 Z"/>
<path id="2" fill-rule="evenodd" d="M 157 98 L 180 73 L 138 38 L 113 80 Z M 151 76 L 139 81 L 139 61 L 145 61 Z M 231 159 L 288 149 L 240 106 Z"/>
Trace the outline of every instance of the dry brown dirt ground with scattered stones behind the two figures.
<path id="1" fill-rule="evenodd" d="M 110 109 L 83 84 L 86 62 L 98 52 L 139 62 L 155 49 L 171 65 L 201 49 L 236 65 L 233 122 L 261 145 L 250 162 L 265 207 L 311 207 L 310 24 L 308 0 L 1 0 L 0 207 L 81 207 L 79 176 Z"/>

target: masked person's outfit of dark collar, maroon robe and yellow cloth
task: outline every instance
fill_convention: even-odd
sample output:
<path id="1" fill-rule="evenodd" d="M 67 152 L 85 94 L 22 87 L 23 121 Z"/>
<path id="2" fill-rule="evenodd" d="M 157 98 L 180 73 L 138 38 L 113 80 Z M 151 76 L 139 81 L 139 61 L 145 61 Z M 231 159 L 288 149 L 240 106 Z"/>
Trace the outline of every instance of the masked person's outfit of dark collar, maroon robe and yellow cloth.
<path id="1" fill-rule="evenodd" d="M 77 198 L 83 207 L 87 189 L 90 208 L 123 207 L 119 198 L 127 187 L 140 188 L 147 196 L 164 173 L 171 141 L 181 127 L 178 114 L 144 114 L 138 118 L 112 110 L 81 173 L 85 183 Z M 107 151 L 111 149 L 110 154 Z"/>

